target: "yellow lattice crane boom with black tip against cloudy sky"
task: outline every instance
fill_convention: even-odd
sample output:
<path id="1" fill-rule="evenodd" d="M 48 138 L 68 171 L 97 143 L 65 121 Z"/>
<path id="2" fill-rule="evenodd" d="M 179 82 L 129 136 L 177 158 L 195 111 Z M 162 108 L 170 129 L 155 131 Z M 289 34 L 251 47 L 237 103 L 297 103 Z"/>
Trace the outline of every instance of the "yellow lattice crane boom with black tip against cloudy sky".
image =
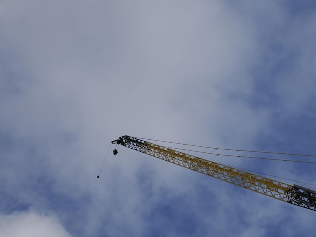
<path id="1" fill-rule="evenodd" d="M 316 211 L 316 191 L 303 184 L 288 185 L 131 136 L 122 136 L 111 144 L 122 145 L 280 201 Z M 116 155 L 117 149 L 114 149 L 113 153 Z"/>

